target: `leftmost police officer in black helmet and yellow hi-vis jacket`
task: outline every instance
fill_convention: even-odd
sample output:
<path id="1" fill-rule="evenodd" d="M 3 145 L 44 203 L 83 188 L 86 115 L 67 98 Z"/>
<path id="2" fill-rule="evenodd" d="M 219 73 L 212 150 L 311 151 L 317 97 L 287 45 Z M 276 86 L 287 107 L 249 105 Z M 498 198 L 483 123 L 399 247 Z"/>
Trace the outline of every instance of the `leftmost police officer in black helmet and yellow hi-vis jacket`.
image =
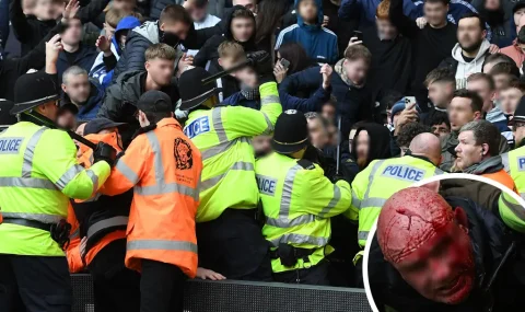
<path id="1" fill-rule="evenodd" d="M 11 109 L 20 123 L 0 134 L 0 311 L 71 311 L 68 201 L 97 192 L 115 161 L 100 143 L 84 170 L 68 134 L 43 126 L 57 118 L 57 85 L 46 72 L 22 76 Z"/>

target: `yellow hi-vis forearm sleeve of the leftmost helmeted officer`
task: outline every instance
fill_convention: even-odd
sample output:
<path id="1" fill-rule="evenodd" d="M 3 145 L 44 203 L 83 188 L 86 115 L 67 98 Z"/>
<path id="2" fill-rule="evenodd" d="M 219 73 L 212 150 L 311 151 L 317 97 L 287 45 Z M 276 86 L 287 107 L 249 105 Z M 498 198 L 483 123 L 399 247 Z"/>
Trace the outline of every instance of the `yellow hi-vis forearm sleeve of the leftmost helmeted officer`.
<path id="1" fill-rule="evenodd" d="M 109 172 L 109 164 L 105 161 L 97 162 L 86 170 L 73 164 L 55 184 L 68 197 L 88 199 L 104 184 Z"/>

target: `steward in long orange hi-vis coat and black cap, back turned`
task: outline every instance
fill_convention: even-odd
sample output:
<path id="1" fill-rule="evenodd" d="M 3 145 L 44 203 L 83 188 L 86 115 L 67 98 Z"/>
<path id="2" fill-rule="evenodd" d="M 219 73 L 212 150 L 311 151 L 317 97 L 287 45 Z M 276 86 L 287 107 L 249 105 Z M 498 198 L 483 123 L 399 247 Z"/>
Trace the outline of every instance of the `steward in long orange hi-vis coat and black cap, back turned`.
<path id="1" fill-rule="evenodd" d="M 126 266 L 141 270 L 141 311 L 183 311 L 184 281 L 197 273 L 195 218 L 200 152 L 173 118 L 167 94 L 148 91 L 137 103 L 142 128 L 102 192 L 135 187 Z"/>

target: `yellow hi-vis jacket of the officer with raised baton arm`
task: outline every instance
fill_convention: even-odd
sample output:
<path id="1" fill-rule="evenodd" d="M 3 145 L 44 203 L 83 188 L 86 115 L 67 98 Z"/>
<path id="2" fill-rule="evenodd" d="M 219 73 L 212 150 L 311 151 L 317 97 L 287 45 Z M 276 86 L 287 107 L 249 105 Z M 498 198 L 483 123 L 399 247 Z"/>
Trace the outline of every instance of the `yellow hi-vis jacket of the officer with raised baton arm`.
<path id="1" fill-rule="evenodd" d="M 282 113 L 277 83 L 259 86 L 260 112 L 242 106 L 191 112 L 185 134 L 202 152 L 197 222 L 219 218 L 228 208 L 253 209 L 259 200 L 249 139 L 271 134 Z"/>

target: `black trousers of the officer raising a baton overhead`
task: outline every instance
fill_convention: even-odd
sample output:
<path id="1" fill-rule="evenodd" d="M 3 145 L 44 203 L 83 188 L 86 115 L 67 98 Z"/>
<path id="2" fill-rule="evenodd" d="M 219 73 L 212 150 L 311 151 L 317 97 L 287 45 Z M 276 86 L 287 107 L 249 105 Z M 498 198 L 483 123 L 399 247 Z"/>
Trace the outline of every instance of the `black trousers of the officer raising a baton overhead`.
<path id="1" fill-rule="evenodd" d="M 228 279 L 271 281 L 269 244 L 255 212 L 226 209 L 213 221 L 197 223 L 199 266 Z"/>

